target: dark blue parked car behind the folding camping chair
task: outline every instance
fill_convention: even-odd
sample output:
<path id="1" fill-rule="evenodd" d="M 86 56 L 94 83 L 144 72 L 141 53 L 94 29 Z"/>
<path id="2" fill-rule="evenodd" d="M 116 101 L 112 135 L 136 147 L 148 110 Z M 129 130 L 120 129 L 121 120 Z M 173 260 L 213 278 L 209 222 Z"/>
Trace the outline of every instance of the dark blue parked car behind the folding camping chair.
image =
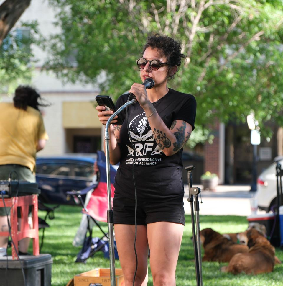
<path id="1" fill-rule="evenodd" d="M 39 199 L 51 204 L 79 204 L 77 197 L 66 192 L 82 190 L 93 183 L 96 158 L 96 154 L 38 157 L 36 181 L 41 190 Z"/>

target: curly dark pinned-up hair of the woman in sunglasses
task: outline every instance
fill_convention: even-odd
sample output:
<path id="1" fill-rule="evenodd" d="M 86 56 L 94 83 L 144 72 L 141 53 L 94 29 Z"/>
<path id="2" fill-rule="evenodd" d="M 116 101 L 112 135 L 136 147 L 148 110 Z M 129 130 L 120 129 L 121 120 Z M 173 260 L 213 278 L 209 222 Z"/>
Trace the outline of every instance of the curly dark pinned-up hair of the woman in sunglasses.
<path id="1" fill-rule="evenodd" d="M 177 66 L 177 70 L 182 61 L 186 59 L 186 55 L 181 53 L 181 42 L 162 34 L 155 34 L 147 37 L 147 43 L 144 45 L 142 55 L 149 47 L 160 50 L 167 58 L 167 63 L 169 63 L 170 66 Z M 168 78 L 174 79 L 174 74 L 171 76 L 168 74 Z"/>

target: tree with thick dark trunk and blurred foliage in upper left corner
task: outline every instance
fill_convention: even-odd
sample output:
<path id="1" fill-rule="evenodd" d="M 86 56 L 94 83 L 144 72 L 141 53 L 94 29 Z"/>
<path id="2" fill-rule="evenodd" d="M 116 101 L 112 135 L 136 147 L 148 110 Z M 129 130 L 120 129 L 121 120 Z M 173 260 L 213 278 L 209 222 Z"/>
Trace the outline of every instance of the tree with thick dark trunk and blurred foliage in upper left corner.
<path id="1" fill-rule="evenodd" d="M 31 79 L 33 53 L 30 46 L 42 41 L 37 22 L 12 29 L 31 0 L 6 0 L 0 5 L 0 92 L 12 92 Z"/>

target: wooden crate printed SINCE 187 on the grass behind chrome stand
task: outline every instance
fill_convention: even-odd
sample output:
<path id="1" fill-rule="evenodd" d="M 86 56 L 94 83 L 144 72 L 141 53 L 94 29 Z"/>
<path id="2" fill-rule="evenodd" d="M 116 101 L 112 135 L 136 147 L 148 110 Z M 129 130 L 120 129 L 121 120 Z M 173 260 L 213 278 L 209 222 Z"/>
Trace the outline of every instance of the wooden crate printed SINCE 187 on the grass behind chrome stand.
<path id="1" fill-rule="evenodd" d="M 124 277 L 122 269 L 115 269 L 116 286 L 124 286 Z M 111 286 L 110 269 L 95 268 L 93 270 L 75 275 L 74 286 L 89 286 L 90 284 L 101 284 L 102 286 Z M 98 286 L 97 285 L 97 286 Z"/>

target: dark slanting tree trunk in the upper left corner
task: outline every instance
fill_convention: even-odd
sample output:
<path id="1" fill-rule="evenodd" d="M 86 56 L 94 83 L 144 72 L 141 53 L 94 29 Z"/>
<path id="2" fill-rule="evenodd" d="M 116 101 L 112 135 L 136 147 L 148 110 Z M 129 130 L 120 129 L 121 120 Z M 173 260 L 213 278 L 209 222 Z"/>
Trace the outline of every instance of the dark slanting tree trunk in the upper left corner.
<path id="1" fill-rule="evenodd" d="M 6 0 L 0 6 L 0 46 L 31 0 Z"/>

